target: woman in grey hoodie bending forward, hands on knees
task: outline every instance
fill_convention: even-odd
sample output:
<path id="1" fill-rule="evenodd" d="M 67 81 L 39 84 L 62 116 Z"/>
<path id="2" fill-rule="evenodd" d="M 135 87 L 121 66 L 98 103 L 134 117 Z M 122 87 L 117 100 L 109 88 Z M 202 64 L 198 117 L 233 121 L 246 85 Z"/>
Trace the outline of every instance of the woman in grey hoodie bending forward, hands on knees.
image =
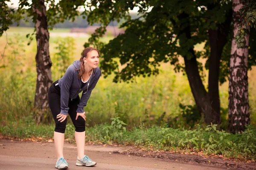
<path id="1" fill-rule="evenodd" d="M 57 152 L 55 167 L 60 170 L 68 168 L 67 161 L 63 156 L 64 133 L 67 123 L 67 115 L 76 127 L 75 138 L 77 146 L 77 166 L 94 166 L 96 162 L 84 155 L 85 143 L 85 112 L 84 106 L 90 94 L 95 88 L 101 70 L 99 64 L 99 51 L 88 47 L 83 51 L 80 60 L 76 60 L 67 68 L 61 79 L 54 82 L 48 91 L 49 107 L 55 120 L 54 143 Z M 83 91 L 81 100 L 79 93 Z"/>

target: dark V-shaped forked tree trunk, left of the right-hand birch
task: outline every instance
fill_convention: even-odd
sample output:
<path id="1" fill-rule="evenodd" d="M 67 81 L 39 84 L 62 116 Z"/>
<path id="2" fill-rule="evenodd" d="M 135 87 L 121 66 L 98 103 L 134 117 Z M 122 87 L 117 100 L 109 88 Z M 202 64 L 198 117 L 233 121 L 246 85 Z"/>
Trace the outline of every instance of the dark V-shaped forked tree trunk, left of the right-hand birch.
<path id="1" fill-rule="evenodd" d="M 185 71 L 189 79 L 189 85 L 195 99 L 195 103 L 201 113 L 204 113 L 204 121 L 209 124 L 220 124 L 220 99 L 219 99 L 219 67 L 222 50 L 227 43 L 227 34 L 230 29 L 231 11 L 227 14 L 225 23 L 218 26 L 217 30 L 209 30 L 209 42 L 211 54 L 209 57 L 209 91 L 204 88 L 193 49 L 190 49 L 193 57 L 184 57 Z M 191 38 L 189 26 L 184 29 L 186 37 Z"/>

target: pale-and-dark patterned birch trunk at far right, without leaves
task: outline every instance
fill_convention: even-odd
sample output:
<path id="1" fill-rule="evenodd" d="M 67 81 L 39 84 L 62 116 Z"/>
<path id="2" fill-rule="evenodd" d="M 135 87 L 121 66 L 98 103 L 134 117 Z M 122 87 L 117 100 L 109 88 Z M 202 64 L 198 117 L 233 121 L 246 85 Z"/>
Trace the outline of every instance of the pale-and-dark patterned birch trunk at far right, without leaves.
<path id="1" fill-rule="evenodd" d="M 230 57 L 230 82 L 229 82 L 229 130 L 232 133 L 244 131 L 245 125 L 250 124 L 249 99 L 248 99 L 248 45 L 249 34 L 245 37 L 243 48 L 237 48 L 235 36 L 238 31 L 241 16 L 239 9 L 243 6 L 240 0 L 232 1 L 233 8 L 233 40 Z M 249 28 L 249 27 L 247 27 Z"/>

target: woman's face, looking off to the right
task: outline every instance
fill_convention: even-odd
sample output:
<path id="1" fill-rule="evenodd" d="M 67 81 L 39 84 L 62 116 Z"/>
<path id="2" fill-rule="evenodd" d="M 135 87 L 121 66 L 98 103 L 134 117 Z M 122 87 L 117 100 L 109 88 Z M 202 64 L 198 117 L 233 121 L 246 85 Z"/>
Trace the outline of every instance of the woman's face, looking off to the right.
<path id="1" fill-rule="evenodd" d="M 97 68 L 99 64 L 99 54 L 97 51 L 93 50 L 87 53 L 87 58 L 84 57 L 84 67 L 85 69 Z"/>

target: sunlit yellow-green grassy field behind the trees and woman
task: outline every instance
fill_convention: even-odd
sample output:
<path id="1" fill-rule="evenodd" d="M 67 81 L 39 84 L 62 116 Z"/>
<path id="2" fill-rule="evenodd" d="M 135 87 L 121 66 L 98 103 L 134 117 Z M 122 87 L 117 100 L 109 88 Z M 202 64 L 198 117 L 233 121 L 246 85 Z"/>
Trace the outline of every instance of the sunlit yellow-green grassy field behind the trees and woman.
<path id="1" fill-rule="evenodd" d="M 2 100 L 0 101 L 0 122 L 8 125 L 26 119 L 33 119 L 33 100 L 35 94 L 36 70 L 35 70 L 35 39 L 28 46 L 26 34 L 32 33 L 33 28 L 10 28 L 7 31 L 9 45 L 5 50 L 5 56 L 0 60 L 0 91 Z M 58 37 L 61 35 L 62 37 Z M 53 62 L 52 80 L 60 78 L 61 73 L 55 67 L 57 62 L 55 49 L 57 40 L 67 41 L 69 29 L 54 29 L 50 31 L 49 50 Z M 103 37 L 102 41 L 109 41 L 113 37 Z M 77 36 L 70 38 L 73 45 L 66 44 L 66 50 L 70 53 L 70 65 L 75 59 L 79 59 L 83 50 L 83 44 L 88 37 Z M 69 41 L 69 40 L 68 40 Z M 6 35 L 0 37 L 0 51 L 3 53 L 6 45 Z M 73 46 L 73 47 L 71 47 Z M 195 46 L 200 50 L 204 44 Z M 70 50 L 71 49 L 71 50 Z M 69 53 L 68 53 L 69 54 Z M 99 66 L 100 67 L 100 66 Z M 248 73 L 249 76 L 249 96 L 250 115 L 252 125 L 256 125 L 256 92 L 254 77 L 255 68 Z M 160 67 L 160 74 L 152 77 L 138 77 L 134 83 L 113 83 L 113 75 L 104 79 L 101 77 L 95 90 L 93 91 L 85 111 L 87 114 L 87 126 L 111 122 L 112 117 L 121 117 L 122 121 L 128 124 L 128 128 L 139 125 L 165 125 L 170 127 L 189 128 L 186 120 L 181 116 L 182 110 L 179 104 L 194 105 L 194 99 L 190 91 L 189 82 L 186 75 L 175 73 L 172 65 L 163 63 Z M 207 79 L 207 78 L 206 78 Z M 207 82 L 204 82 L 207 85 Z M 223 127 L 227 127 L 228 108 L 228 83 L 220 86 L 220 99 L 222 108 Z M 163 121 L 159 122 L 159 117 L 166 112 Z M 197 123 L 201 123 L 198 120 Z"/>

